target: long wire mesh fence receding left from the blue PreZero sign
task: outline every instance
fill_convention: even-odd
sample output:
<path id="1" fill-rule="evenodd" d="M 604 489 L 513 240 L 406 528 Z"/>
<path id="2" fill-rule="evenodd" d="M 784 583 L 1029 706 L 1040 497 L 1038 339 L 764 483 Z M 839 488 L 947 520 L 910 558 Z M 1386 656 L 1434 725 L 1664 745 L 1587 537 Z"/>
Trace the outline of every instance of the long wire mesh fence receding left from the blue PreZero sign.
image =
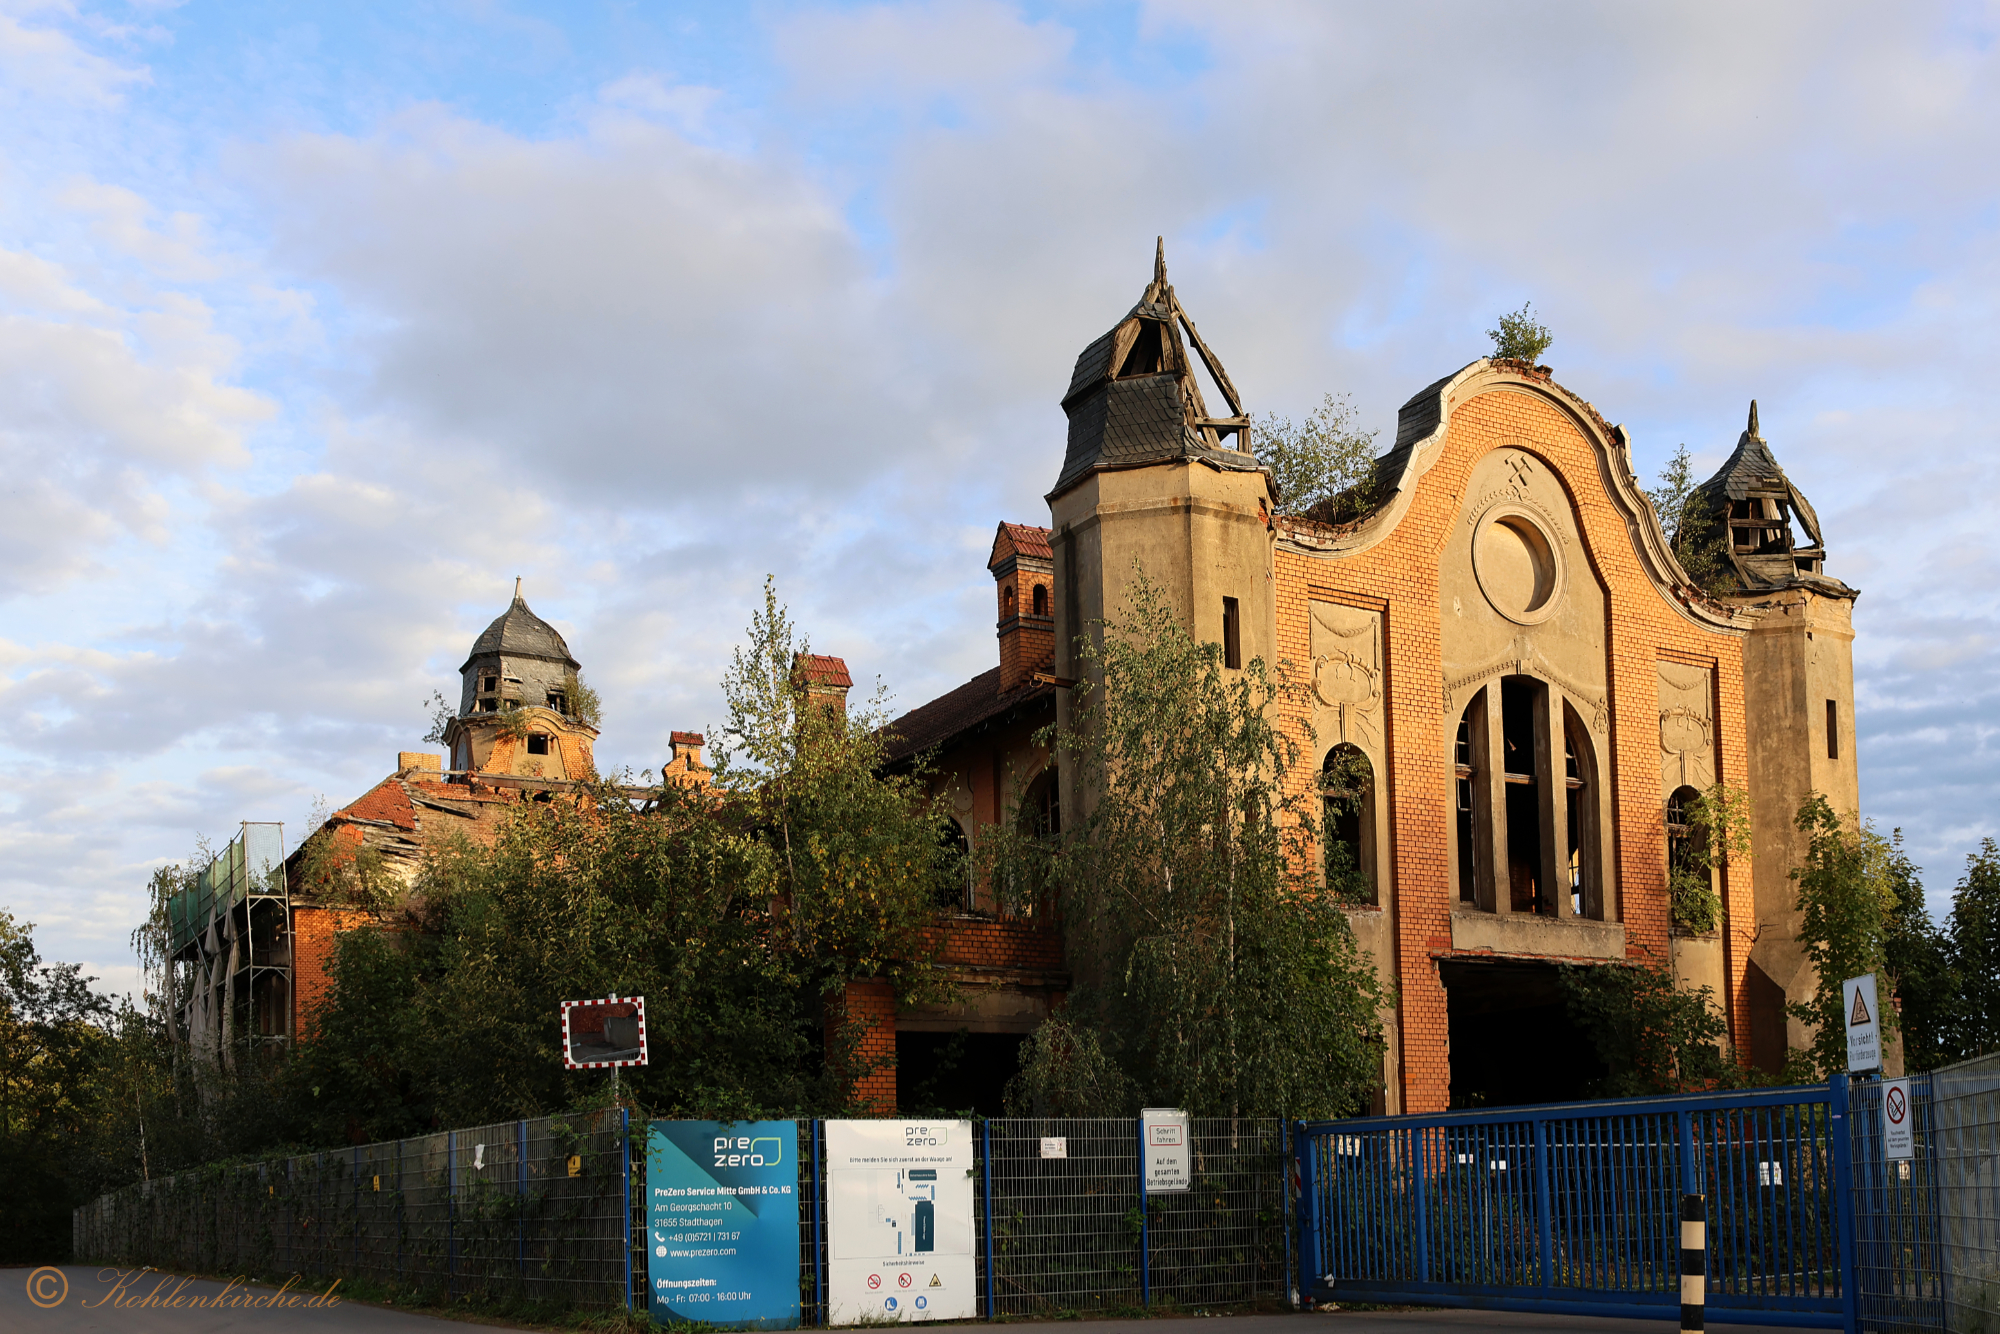
<path id="1" fill-rule="evenodd" d="M 206 1274 L 304 1274 L 624 1306 L 624 1118 L 538 1118 L 212 1164 L 76 1210 L 74 1254 Z"/>

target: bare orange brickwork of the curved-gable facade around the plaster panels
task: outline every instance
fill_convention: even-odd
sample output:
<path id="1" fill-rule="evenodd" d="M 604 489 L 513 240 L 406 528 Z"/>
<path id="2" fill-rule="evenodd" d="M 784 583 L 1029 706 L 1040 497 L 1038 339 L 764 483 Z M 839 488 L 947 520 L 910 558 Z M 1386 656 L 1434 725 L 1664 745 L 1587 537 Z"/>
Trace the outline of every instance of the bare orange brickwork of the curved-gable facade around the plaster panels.
<path id="1" fill-rule="evenodd" d="M 1742 632 L 1694 624 L 1648 576 L 1634 552 L 1620 506 L 1606 494 L 1600 460 L 1622 458 L 1622 446 L 1592 444 L 1598 430 L 1582 412 L 1564 410 L 1560 392 L 1502 386 L 1450 412 L 1442 450 L 1424 472 L 1394 532 L 1354 556 L 1306 550 L 1274 552 L 1272 588 L 1278 602 L 1280 652 L 1310 662 L 1308 606 L 1312 600 L 1380 610 L 1388 646 L 1384 704 L 1390 822 L 1390 886 L 1378 912 L 1388 914 L 1394 940 L 1394 982 L 1400 998 L 1402 1106 L 1440 1110 L 1450 1100 L 1450 1040 L 1446 994 L 1438 962 L 1454 956 L 1450 876 L 1452 730 L 1456 718 L 1440 704 L 1440 554 L 1462 540 L 1460 506 L 1474 464 L 1494 448 L 1530 452 L 1568 492 L 1584 544 L 1588 576 L 1608 594 L 1606 678 L 1610 684 L 1612 862 L 1616 916 L 1626 930 L 1626 954 L 1668 962 L 1666 826 L 1660 794 L 1658 662 L 1712 666 L 1718 766 L 1724 782 L 1742 784 L 1744 672 Z M 1280 520 L 1282 524 L 1282 520 Z M 1570 578 L 1584 570 L 1572 570 Z M 1294 716 L 1296 726 L 1296 716 Z M 1324 750 L 1324 746 L 1322 746 Z M 1302 772 L 1300 784 L 1312 774 Z M 1744 964 L 1756 914 L 1748 864 L 1724 882 L 1722 928 L 1728 1018 L 1732 1034 L 1748 1032 Z M 1610 916 L 1610 914 L 1606 914 Z"/>

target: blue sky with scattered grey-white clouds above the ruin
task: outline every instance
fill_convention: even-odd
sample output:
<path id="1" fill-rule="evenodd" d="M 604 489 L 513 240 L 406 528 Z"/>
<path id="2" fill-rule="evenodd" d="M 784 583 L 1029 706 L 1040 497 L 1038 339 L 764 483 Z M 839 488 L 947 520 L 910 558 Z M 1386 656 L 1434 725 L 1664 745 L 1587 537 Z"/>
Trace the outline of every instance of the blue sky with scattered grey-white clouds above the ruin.
<path id="1" fill-rule="evenodd" d="M 516 574 L 650 768 L 766 572 L 900 706 L 992 656 L 1076 350 L 1176 286 L 1254 410 L 1534 300 L 1652 476 L 1764 434 L 1862 588 L 1864 814 L 1994 834 L 1984 4 L 0 0 L 0 904 L 418 744 Z"/>

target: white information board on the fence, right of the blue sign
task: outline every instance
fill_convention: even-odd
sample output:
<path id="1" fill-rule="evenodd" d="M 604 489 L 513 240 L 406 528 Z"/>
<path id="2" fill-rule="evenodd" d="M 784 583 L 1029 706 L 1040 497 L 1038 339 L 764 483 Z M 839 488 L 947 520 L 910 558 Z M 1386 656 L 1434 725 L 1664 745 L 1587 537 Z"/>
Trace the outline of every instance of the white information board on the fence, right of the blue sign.
<path id="1" fill-rule="evenodd" d="M 972 1122 L 826 1122 L 832 1324 L 972 1320 Z"/>

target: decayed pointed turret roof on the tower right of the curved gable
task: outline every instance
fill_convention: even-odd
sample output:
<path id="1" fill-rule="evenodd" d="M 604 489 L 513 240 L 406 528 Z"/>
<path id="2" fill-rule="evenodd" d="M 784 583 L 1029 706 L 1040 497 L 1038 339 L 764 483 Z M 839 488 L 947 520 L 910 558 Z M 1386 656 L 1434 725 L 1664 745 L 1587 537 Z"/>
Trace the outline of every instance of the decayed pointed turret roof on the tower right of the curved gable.
<path id="1" fill-rule="evenodd" d="M 1816 584 L 1848 590 L 1824 574 L 1826 542 L 1812 502 L 1778 466 L 1758 430 L 1756 400 L 1736 450 L 1712 478 L 1694 488 L 1698 512 L 1708 518 L 1704 540 L 1722 546 L 1746 592 Z M 1794 534 L 1792 522 L 1802 534 Z"/>

